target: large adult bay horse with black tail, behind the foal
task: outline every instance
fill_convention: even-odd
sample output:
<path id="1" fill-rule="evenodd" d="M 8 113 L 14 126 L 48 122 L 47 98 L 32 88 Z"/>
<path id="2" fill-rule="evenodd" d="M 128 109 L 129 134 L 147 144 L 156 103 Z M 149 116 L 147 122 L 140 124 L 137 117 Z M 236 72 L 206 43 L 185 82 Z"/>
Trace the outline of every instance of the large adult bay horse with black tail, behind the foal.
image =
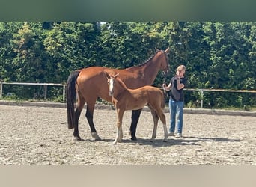
<path id="1" fill-rule="evenodd" d="M 147 62 L 138 67 L 129 67 L 124 70 L 110 69 L 106 67 L 88 67 L 82 70 L 76 70 L 70 74 L 67 79 L 67 122 L 68 128 L 73 129 L 73 135 L 77 140 L 81 140 L 79 136 L 79 117 L 82 108 L 87 102 L 87 110 L 85 117 L 87 117 L 89 126 L 91 128 L 91 135 L 95 140 L 99 140 L 94 127 L 94 107 L 98 97 L 108 102 L 112 102 L 112 96 L 109 96 L 108 85 L 105 84 L 106 74 L 119 73 L 119 77 L 128 88 L 139 88 L 144 85 L 152 85 L 156 79 L 159 70 L 163 70 L 167 73 L 169 70 L 169 64 L 165 51 L 156 50 L 156 54 L 153 55 Z M 76 110 L 74 107 L 75 99 L 77 98 Z M 142 108 L 132 111 L 132 123 L 130 126 L 130 132 L 132 140 L 136 140 L 135 131 L 138 123 L 138 117 L 141 114 Z"/>

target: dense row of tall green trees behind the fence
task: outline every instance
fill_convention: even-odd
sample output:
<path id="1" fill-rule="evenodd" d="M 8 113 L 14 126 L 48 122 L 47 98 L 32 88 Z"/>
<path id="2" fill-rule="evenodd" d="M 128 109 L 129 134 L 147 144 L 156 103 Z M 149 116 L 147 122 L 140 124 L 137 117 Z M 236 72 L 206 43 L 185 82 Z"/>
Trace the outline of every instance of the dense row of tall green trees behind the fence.
<path id="1" fill-rule="evenodd" d="M 73 70 L 132 67 L 155 48 L 170 47 L 167 79 L 184 64 L 189 88 L 255 90 L 255 28 L 255 22 L 0 22 L 0 79 L 67 82 Z M 162 81 L 159 73 L 154 85 Z M 255 105 L 255 96 L 246 96 L 204 94 L 212 106 Z"/>

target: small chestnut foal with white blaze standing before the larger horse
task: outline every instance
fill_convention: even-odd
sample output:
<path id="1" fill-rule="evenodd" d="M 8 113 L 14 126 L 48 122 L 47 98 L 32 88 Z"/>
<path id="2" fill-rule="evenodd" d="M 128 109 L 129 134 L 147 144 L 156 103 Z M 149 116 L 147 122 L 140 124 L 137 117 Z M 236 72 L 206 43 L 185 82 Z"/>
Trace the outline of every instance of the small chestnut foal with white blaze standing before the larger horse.
<path id="1" fill-rule="evenodd" d="M 160 117 L 165 133 L 164 141 L 166 141 L 168 137 L 168 132 L 166 127 L 165 114 L 163 113 L 163 109 L 165 108 L 165 96 L 162 93 L 162 91 L 159 88 L 149 85 L 137 89 L 129 89 L 124 84 L 124 82 L 122 82 L 121 79 L 119 79 L 118 74 L 112 76 L 109 75 L 109 73 L 106 73 L 109 85 L 109 95 L 112 96 L 112 102 L 115 105 L 115 108 L 118 113 L 118 129 L 113 144 L 122 141 L 122 120 L 124 116 L 124 111 L 143 108 L 144 105 L 146 104 L 150 106 L 151 113 L 153 114 L 154 124 L 151 140 L 156 138 L 156 128 Z"/>

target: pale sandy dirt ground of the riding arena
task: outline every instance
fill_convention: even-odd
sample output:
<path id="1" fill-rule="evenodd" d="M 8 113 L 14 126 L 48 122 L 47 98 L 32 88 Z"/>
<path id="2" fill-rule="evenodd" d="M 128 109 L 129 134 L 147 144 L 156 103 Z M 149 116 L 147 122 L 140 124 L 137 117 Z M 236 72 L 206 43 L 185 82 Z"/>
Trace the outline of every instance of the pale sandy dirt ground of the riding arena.
<path id="1" fill-rule="evenodd" d="M 165 113 L 169 128 L 169 114 Z M 79 120 L 82 141 L 67 129 L 66 108 L 0 105 L 0 165 L 256 165 L 256 117 L 184 114 L 183 138 L 163 142 L 159 122 L 150 142 L 153 119 L 142 111 L 138 141 L 131 141 L 131 112 L 124 115 L 124 140 L 115 138 L 116 113 L 96 109 L 94 123 L 102 141 L 94 141 Z"/>

